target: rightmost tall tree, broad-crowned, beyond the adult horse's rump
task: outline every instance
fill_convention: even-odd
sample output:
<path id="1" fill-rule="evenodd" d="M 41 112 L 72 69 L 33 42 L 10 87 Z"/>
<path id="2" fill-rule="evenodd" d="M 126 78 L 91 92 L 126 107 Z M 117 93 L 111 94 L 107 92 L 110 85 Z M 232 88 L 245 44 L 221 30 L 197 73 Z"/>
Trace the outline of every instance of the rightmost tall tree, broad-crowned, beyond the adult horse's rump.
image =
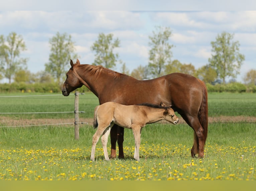
<path id="1" fill-rule="evenodd" d="M 212 41 L 212 58 L 209 58 L 209 63 L 216 69 L 218 77 L 225 83 L 226 77 L 233 77 L 240 73 L 239 70 L 243 61 L 244 55 L 239 53 L 239 42 L 233 42 L 234 34 L 223 32 L 218 34 L 216 41 Z"/>

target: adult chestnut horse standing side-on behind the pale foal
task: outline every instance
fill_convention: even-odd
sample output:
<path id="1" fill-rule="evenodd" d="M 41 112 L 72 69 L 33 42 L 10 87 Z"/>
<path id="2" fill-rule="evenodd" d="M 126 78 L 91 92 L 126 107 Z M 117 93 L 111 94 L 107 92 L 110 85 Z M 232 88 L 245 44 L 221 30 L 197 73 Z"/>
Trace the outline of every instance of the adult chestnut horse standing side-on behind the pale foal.
<path id="1" fill-rule="evenodd" d="M 70 61 L 71 68 L 62 86 L 62 94 L 85 85 L 98 98 L 99 103 L 114 101 L 123 105 L 141 103 L 172 105 L 186 123 L 194 129 L 194 144 L 191 156 L 204 157 L 204 146 L 208 132 L 208 98 L 203 81 L 182 73 L 172 73 L 152 80 L 136 80 L 103 66 L 76 64 Z M 116 157 L 116 141 L 119 158 L 124 158 L 124 128 L 114 125 L 110 132 L 111 158 Z"/>

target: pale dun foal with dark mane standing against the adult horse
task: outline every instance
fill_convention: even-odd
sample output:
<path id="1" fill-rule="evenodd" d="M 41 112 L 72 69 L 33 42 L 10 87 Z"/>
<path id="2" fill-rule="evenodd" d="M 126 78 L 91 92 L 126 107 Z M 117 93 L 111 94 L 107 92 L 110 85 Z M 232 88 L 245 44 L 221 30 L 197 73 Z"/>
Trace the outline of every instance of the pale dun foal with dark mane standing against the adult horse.
<path id="1" fill-rule="evenodd" d="M 95 107 L 94 128 L 97 131 L 93 135 L 91 160 L 94 161 L 96 144 L 101 137 L 104 156 L 109 160 L 107 142 L 110 129 L 114 124 L 132 129 L 135 139 L 134 159 L 139 161 L 139 147 L 141 128 L 146 124 L 165 119 L 170 123 L 177 124 L 179 119 L 173 109 L 163 103 L 159 105 L 122 105 L 116 102 L 106 102 Z"/>

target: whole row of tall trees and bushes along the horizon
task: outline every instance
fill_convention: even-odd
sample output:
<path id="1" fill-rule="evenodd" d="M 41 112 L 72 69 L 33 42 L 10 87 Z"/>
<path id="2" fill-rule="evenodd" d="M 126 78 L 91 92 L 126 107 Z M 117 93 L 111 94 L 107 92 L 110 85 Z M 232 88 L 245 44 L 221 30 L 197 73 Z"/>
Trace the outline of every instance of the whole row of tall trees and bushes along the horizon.
<path id="1" fill-rule="evenodd" d="M 114 39 L 113 34 L 100 33 L 98 39 L 91 46 L 95 53 L 93 65 L 103 65 L 106 68 L 114 69 L 119 63 L 122 65 L 122 73 L 128 74 L 138 80 L 157 78 L 173 72 L 181 72 L 195 76 L 205 83 L 211 85 L 225 84 L 227 78 L 235 82 L 240 73 L 245 56 L 240 53 L 240 44 L 234 41 L 234 34 L 222 32 L 218 34 L 215 41 L 211 42 L 212 54 L 208 63 L 195 69 L 194 65 L 181 63 L 172 60 L 172 49 L 170 43 L 172 31 L 169 27 L 155 27 L 152 35 L 149 36 L 148 46 L 149 62 L 146 66 L 138 66 L 129 72 L 126 64 L 119 59 L 119 54 L 114 49 L 120 47 L 120 40 Z M 21 35 L 11 32 L 8 36 L 0 36 L 0 80 L 7 78 L 9 83 L 12 80 L 19 83 L 57 83 L 61 84 L 65 73 L 69 68 L 71 58 L 79 58 L 75 53 L 75 42 L 67 33 L 56 33 L 49 39 L 50 54 L 48 62 L 45 63 L 45 70 L 36 74 L 27 70 L 28 58 L 20 58 L 20 53 L 26 50 L 25 42 Z M 246 84 L 256 85 L 256 70 L 251 69 L 245 76 Z"/>

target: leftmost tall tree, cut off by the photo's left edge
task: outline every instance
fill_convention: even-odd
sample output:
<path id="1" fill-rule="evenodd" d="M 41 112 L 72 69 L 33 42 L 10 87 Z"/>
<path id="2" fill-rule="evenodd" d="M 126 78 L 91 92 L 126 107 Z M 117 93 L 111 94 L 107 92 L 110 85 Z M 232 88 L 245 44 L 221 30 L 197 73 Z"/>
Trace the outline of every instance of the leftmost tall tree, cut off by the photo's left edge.
<path id="1" fill-rule="evenodd" d="M 0 36 L 0 72 L 9 83 L 17 71 L 26 68 L 27 58 L 19 58 L 25 50 L 26 45 L 21 35 L 12 32 L 6 38 Z"/>

